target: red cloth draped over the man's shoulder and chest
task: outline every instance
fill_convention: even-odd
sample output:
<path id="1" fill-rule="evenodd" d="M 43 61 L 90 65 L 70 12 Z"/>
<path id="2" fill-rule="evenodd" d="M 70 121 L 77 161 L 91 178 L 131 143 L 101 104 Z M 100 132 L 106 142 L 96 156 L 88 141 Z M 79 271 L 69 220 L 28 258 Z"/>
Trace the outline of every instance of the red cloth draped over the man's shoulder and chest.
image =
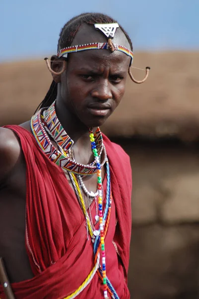
<path id="1" fill-rule="evenodd" d="M 16 299 L 64 299 L 79 288 L 95 265 L 93 243 L 90 238 L 87 240 L 83 212 L 64 171 L 46 157 L 32 134 L 19 126 L 6 128 L 19 137 L 26 161 L 26 250 L 34 273 L 30 280 L 11 284 L 14 296 Z M 120 146 L 104 135 L 103 140 L 113 196 L 105 238 L 107 277 L 119 298 L 129 299 L 131 165 Z M 104 190 L 106 182 L 105 176 Z M 106 191 L 104 204 L 105 201 Z M 92 203 L 93 217 L 94 210 Z M 2 286 L 0 298 L 5 298 Z M 97 273 L 76 298 L 103 299 L 103 284 Z"/>

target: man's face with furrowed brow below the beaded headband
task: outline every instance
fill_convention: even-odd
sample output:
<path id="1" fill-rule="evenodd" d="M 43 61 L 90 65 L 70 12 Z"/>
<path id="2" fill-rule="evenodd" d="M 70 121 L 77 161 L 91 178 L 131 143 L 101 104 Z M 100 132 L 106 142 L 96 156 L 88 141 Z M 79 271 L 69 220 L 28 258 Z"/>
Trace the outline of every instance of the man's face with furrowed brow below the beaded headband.
<path id="1" fill-rule="evenodd" d="M 102 33 L 93 28 L 91 30 L 94 31 L 95 42 L 107 41 Z M 77 36 L 78 33 L 79 30 L 72 44 L 87 43 L 82 41 L 85 39 L 82 34 L 81 38 Z M 113 40 L 113 43 L 122 44 L 119 40 Z M 127 41 L 122 45 L 127 46 Z M 119 51 L 86 50 L 70 54 L 66 73 L 61 78 L 61 96 L 67 109 L 84 125 L 101 126 L 125 93 L 130 60 L 129 56 Z"/>

